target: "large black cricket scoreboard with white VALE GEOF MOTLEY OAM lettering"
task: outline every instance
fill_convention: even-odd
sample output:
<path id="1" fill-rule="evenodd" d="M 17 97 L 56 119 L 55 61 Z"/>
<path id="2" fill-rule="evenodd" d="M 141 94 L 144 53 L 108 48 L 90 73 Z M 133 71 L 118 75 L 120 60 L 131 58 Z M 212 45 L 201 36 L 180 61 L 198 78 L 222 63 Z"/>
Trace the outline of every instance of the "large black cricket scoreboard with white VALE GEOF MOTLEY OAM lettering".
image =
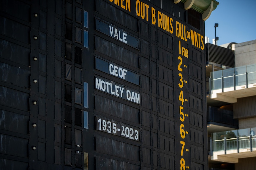
<path id="1" fill-rule="evenodd" d="M 208 169 L 201 14 L 10 0 L 0 25 L 0 169 Z"/>

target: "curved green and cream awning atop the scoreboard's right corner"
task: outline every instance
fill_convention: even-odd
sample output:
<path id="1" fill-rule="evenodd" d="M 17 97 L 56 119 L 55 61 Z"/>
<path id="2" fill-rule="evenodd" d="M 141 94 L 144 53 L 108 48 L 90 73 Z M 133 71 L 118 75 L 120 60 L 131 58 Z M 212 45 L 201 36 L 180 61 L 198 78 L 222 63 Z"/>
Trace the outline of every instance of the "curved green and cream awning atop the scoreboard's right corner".
<path id="1" fill-rule="evenodd" d="M 203 20 L 207 20 L 211 12 L 217 8 L 219 2 L 215 0 L 173 0 L 175 4 L 179 2 L 184 3 L 184 8 L 187 10 L 189 8 L 195 9 L 197 12 L 203 14 Z"/>

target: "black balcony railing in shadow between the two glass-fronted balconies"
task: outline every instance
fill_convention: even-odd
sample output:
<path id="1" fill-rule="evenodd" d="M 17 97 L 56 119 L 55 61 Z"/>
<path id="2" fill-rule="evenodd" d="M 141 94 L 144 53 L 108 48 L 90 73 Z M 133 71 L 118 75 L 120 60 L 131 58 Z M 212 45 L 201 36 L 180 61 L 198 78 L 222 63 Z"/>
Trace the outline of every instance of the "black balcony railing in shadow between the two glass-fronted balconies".
<path id="1" fill-rule="evenodd" d="M 238 128 L 238 120 L 233 119 L 233 111 L 219 109 L 217 107 L 209 106 L 207 108 L 207 121 L 227 124 L 227 126 Z"/>

